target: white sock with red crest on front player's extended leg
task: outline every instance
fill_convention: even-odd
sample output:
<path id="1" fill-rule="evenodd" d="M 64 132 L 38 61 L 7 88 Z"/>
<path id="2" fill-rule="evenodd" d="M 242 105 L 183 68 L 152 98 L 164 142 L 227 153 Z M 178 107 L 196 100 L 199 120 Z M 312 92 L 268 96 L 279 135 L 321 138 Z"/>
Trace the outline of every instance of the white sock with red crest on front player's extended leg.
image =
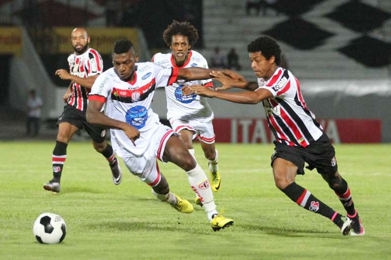
<path id="1" fill-rule="evenodd" d="M 192 190 L 204 205 L 209 221 L 212 221 L 212 216 L 217 214 L 217 211 L 209 179 L 199 164 L 186 173 Z"/>

